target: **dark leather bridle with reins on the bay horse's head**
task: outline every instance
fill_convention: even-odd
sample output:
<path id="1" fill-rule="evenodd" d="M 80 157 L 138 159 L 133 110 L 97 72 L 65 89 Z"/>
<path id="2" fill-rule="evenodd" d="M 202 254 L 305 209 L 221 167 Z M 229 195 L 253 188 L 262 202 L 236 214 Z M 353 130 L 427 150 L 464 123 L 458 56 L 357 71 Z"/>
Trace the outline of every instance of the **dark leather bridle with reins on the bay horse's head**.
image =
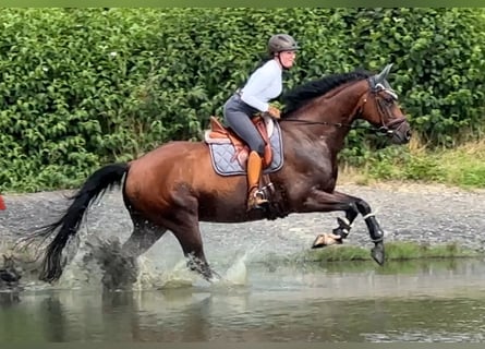
<path id="1" fill-rule="evenodd" d="M 318 124 L 318 125 L 329 125 L 329 127 L 335 127 L 335 128 L 347 128 L 347 129 L 362 129 L 362 130 L 371 130 L 374 131 L 377 134 L 380 135 L 387 135 L 387 136 L 391 136 L 396 129 L 399 129 L 399 127 L 405 121 L 404 118 L 392 118 L 392 116 L 390 115 L 389 108 L 388 106 L 386 106 L 386 104 L 393 104 L 396 100 L 398 100 L 398 95 L 396 94 L 396 92 L 390 88 L 390 86 L 385 86 L 387 83 L 383 84 L 383 83 L 376 83 L 374 76 L 367 79 L 368 84 L 369 84 L 369 89 L 361 97 L 357 107 L 355 108 L 355 112 L 354 112 L 354 117 L 352 118 L 352 120 L 357 119 L 362 116 L 362 112 L 364 111 L 364 105 L 367 103 L 367 96 L 369 95 L 374 95 L 374 101 L 376 103 L 376 108 L 379 112 L 379 117 L 380 117 L 380 125 L 376 127 L 376 125 L 353 125 L 353 124 L 347 124 L 347 123 L 342 123 L 342 122 L 328 122 L 328 121 L 308 121 L 308 120 L 301 120 L 301 119 L 280 119 L 278 120 L 279 122 L 296 122 L 296 123 L 302 123 L 302 124 L 306 124 L 306 125 L 314 125 L 314 124 Z M 380 93 L 386 93 L 387 95 L 389 95 L 389 100 L 387 100 L 387 98 L 383 98 L 379 96 Z M 388 120 L 391 120 L 390 122 L 386 123 L 384 120 L 384 117 L 387 117 Z"/>

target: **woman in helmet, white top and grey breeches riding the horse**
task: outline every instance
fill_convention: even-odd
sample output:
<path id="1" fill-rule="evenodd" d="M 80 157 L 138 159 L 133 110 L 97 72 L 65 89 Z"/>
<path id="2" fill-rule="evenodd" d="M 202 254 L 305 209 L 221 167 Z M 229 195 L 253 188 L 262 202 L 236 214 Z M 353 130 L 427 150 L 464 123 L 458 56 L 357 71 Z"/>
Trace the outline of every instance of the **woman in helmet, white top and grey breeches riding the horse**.
<path id="1" fill-rule="evenodd" d="M 289 70 L 299 49 L 288 34 L 276 34 L 269 38 L 267 61 L 256 69 L 243 88 L 238 89 L 225 104 L 226 123 L 250 146 L 247 158 L 247 210 L 262 208 L 268 203 L 259 190 L 265 141 L 251 121 L 258 112 L 275 119 L 280 110 L 269 104 L 282 92 L 282 71 Z"/>

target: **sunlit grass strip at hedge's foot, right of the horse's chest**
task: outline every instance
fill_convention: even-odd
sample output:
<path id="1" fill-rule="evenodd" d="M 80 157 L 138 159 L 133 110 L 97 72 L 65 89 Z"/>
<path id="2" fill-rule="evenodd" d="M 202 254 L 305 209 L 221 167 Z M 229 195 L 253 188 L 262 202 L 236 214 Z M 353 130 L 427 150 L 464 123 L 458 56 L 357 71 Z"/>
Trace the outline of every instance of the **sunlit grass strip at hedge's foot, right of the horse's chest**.
<path id="1" fill-rule="evenodd" d="M 485 140 L 431 151 L 415 137 L 369 154 L 362 166 L 341 166 L 339 178 L 364 185 L 396 180 L 485 189 Z"/>

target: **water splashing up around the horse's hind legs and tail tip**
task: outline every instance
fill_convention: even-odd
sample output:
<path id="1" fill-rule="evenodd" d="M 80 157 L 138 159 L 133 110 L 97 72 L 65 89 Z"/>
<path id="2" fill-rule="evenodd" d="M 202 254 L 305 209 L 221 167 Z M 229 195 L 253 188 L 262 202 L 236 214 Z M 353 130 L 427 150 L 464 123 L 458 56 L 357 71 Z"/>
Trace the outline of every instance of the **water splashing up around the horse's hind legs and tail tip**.
<path id="1" fill-rule="evenodd" d="M 122 253 L 122 241 L 119 238 L 87 236 L 85 231 L 80 231 L 80 234 L 84 236 L 73 239 L 66 245 L 63 253 L 66 264 L 59 281 L 53 285 L 38 281 L 38 270 L 35 270 L 32 280 L 28 280 L 29 289 L 147 291 L 191 287 L 244 287 L 248 284 L 250 256 L 257 251 L 253 246 L 240 251 L 235 258 L 232 258 L 233 253 L 231 258 L 226 254 L 217 257 L 213 261 L 215 270 L 222 273 L 220 276 L 217 274 L 218 277 L 209 284 L 187 268 L 182 254 L 156 249 L 133 258 Z M 162 257 L 159 257 L 160 254 Z"/>

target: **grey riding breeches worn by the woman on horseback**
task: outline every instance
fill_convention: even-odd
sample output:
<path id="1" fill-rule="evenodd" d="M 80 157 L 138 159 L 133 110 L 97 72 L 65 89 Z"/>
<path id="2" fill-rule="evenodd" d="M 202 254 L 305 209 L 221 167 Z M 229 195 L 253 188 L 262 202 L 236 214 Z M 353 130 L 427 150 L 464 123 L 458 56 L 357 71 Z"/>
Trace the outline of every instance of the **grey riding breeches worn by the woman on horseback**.
<path id="1" fill-rule="evenodd" d="M 265 141 L 251 121 L 251 117 L 257 112 L 257 109 L 246 105 L 235 94 L 226 101 L 223 107 L 226 123 L 247 143 L 251 151 L 255 151 L 263 156 L 265 153 Z"/>

